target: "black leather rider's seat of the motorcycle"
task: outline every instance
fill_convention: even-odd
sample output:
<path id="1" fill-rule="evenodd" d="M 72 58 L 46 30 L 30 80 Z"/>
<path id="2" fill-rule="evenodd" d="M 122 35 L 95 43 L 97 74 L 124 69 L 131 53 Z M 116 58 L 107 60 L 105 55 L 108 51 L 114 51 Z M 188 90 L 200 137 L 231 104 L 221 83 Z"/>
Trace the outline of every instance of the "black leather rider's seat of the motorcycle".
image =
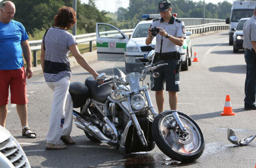
<path id="1" fill-rule="evenodd" d="M 108 84 L 98 88 L 100 84 L 94 80 L 93 76 L 86 78 L 85 85 L 89 88 L 92 98 L 101 103 L 105 103 L 112 90 L 111 86 Z"/>

